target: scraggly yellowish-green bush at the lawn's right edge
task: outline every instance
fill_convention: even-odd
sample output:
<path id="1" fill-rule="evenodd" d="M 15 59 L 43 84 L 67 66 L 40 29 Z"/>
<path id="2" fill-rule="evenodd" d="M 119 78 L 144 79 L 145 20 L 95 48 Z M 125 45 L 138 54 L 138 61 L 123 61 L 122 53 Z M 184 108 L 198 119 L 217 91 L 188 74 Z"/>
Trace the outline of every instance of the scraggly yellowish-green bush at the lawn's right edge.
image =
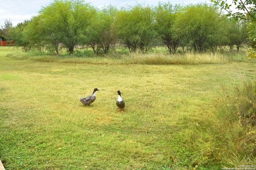
<path id="1" fill-rule="evenodd" d="M 256 81 L 242 83 L 234 93 L 226 91 L 226 97 L 218 105 L 218 116 L 229 127 L 228 131 L 234 131 L 237 126 L 241 129 L 239 134 L 233 133 L 237 153 L 228 162 L 237 165 L 247 160 L 247 164 L 253 164 L 256 156 Z"/>

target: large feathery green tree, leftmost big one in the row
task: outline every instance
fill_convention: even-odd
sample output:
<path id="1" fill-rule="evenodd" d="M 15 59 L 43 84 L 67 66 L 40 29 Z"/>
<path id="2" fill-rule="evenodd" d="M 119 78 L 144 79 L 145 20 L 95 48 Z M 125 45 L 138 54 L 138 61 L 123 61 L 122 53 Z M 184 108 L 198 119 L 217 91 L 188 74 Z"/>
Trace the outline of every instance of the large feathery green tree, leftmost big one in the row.
<path id="1" fill-rule="evenodd" d="M 59 44 L 73 54 L 75 46 L 85 44 L 87 32 L 95 9 L 83 1 L 54 1 L 42 9 L 25 34 L 33 45 L 49 45 L 58 54 Z M 34 41 L 35 40 L 35 41 Z"/>

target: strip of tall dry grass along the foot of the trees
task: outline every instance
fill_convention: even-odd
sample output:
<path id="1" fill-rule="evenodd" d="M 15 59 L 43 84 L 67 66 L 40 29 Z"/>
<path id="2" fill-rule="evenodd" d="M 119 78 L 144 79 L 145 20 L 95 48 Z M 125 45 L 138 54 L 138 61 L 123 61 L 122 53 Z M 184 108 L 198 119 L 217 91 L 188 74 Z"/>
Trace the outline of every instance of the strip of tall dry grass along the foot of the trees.
<path id="1" fill-rule="evenodd" d="M 145 65 L 171 65 L 171 64 L 226 64 L 231 60 L 223 54 L 140 54 L 130 53 L 121 56 L 94 56 L 94 57 L 72 57 L 72 56 L 27 56 L 26 54 L 10 54 L 15 60 L 31 60 L 37 62 L 60 62 L 76 64 L 145 64 Z"/>

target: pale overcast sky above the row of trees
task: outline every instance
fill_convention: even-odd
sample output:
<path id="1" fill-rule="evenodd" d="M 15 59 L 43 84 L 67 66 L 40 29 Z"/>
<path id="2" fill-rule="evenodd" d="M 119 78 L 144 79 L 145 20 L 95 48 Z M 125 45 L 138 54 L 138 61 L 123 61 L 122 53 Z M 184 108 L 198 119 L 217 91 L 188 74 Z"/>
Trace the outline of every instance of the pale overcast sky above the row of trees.
<path id="1" fill-rule="evenodd" d="M 88 0 L 93 6 L 102 8 L 105 5 L 113 5 L 117 7 L 133 4 L 157 5 L 158 2 L 168 2 L 167 0 Z M 24 20 L 31 19 L 37 15 L 38 11 L 49 5 L 53 0 L 0 0 L 0 25 L 4 25 L 6 19 L 10 19 L 13 25 Z M 210 0 L 170 0 L 172 4 L 196 4 L 209 3 Z"/>

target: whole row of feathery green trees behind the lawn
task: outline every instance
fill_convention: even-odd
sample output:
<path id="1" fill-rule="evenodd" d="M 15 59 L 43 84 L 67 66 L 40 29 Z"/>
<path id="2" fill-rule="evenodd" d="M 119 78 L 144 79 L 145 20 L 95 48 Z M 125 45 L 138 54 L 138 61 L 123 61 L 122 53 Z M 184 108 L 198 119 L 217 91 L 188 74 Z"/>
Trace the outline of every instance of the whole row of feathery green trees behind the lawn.
<path id="1" fill-rule="evenodd" d="M 228 6 L 227 6 L 228 8 Z M 251 9 L 252 11 L 252 9 Z M 7 24 L 7 23 L 6 23 Z M 117 9 L 106 6 L 99 10 L 82 0 L 57 1 L 42 10 L 31 21 L 3 30 L 25 51 L 36 49 L 59 54 L 66 48 L 92 48 L 95 54 L 115 51 L 116 45 L 130 52 L 147 53 L 165 45 L 170 54 L 180 52 L 214 52 L 228 46 L 230 50 L 255 40 L 255 24 L 232 20 L 217 6 L 208 4 L 157 6 L 134 5 Z M 247 37 L 249 33 L 249 37 Z M 178 48 L 181 47 L 181 48 Z"/>

